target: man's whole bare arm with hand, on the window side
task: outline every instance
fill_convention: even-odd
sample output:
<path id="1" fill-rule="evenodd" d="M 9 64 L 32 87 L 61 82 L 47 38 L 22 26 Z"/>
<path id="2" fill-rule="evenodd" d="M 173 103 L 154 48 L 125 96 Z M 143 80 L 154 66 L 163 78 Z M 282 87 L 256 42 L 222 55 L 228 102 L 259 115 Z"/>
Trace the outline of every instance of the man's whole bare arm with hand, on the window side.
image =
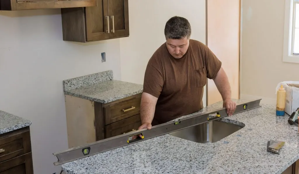
<path id="1" fill-rule="evenodd" d="M 213 78 L 213 81 L 215 82 L 216 87 L 222 96 L 223 107 L 226 107 L 226 112 L 229 116 L 231 116 L 236 110 L 236 103 L 231 100 L 231 86 L 229 84 L 228 77 L 222 67 Z"/>

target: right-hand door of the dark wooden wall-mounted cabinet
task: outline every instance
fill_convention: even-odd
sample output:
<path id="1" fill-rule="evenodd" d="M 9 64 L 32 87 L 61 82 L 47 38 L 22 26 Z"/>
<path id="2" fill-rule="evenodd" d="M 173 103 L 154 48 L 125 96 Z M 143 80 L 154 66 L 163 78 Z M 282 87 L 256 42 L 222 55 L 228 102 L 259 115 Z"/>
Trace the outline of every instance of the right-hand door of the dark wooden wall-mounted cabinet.
<path id="1" fill-rule="evenodd" d="M 109 0 L 110 39 L 129 36 L 128 0 Z"/>

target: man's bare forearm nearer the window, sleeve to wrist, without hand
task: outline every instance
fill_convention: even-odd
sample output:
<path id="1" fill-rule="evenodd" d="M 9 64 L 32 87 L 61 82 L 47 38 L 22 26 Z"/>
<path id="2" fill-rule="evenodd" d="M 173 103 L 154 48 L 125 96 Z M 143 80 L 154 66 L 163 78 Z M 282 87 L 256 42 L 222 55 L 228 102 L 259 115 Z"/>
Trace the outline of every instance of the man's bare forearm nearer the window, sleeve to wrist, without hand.
<path id="1" fill-rule="evenodd" d="M 222 96 L 222 100 L 225 101 L 226 99 L 231 99 L 231 86 L 228 81 L 228 77 L 225 71 L 220 68 L 216 77 L 213 79 L 219 93 Z"/>

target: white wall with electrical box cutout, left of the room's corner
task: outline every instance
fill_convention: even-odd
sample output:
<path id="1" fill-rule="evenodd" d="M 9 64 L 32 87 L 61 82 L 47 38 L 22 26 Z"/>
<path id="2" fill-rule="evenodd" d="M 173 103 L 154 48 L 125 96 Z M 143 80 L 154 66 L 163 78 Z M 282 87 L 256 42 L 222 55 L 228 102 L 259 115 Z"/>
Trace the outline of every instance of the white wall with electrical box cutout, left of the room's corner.
<path id="1" fill-rule="evenodd" d="M 119 40 L 62 41 L 60 9 L 0 11 L 0 21 L 0 110 L 32 121 L 34 173 L 58 174 L 52 153 L 68 148 L 62 80 L 105 70 L 120 80 Z"/>

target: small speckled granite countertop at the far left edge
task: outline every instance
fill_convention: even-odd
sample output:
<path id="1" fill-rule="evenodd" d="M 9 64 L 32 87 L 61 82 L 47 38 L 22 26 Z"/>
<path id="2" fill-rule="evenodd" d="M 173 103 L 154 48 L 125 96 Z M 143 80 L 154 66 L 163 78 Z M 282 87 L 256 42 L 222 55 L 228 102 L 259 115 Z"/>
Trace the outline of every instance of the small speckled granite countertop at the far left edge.
<path id="1" fill-rule="evenodd" d="M 0 110 L 0 134 L 30 125 L 31 121 Z"/>

